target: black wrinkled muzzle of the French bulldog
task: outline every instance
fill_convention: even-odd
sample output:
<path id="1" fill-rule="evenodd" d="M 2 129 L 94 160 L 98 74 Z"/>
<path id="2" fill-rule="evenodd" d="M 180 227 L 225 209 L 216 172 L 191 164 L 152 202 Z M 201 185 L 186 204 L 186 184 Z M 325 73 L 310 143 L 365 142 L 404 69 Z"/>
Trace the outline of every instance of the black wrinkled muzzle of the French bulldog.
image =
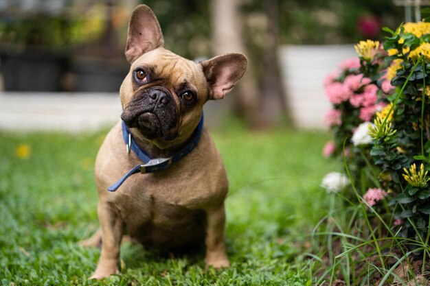
<path id="1" fill-rule="evenodd" d="M 146 93 L 135 96 L 121 115 L 126 126 L 137 128 L 146 139 L 168 141 L 177 137 L 178 118 L 174 101 L 157 106 Z"/>

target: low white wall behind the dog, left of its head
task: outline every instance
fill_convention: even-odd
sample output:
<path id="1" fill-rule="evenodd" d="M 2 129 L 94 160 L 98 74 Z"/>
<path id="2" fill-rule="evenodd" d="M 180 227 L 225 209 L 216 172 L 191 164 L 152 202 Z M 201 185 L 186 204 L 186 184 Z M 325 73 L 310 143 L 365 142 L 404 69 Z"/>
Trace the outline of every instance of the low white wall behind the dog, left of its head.
<path id="1" fill-rule="evenodd" d="M 117 93 L 0 93 L 0 130 L 96 130 L 121 112 Z"/>

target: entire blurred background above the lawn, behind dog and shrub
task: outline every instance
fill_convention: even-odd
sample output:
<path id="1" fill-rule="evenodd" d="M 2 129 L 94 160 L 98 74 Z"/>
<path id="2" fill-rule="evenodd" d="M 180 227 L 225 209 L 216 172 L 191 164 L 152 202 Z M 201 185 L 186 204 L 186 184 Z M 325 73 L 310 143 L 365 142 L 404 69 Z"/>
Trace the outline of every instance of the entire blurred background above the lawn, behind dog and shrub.
<path id="1" fill-rule="evenodd" d="M 81 121 L 95 121 L 88 116 L 95 116 L 97 107 L 116 120 L 117 92 L 128 72 L 128 20 L 140 3 L 157 15 L 166 48 L 185 58 L 233 51 L 248 56 L 242 82 L 223 103 L 212 104 L 208 113 L 215 121 L 228 113 L 252 128 L 278 123 L 320 128 L 330 108 L 324 76 L 355 56 L 354 43 L 382 40 L 382 27 L 394 29 L 403 22 L 401 2 L 0 0 L 0 128 L 21 121 L 21 126 L 40 126 L 53 121 L 48 115 L 55 112 L 73 113 L 65 116 L 72 120 L 78 113 L 73 104 L 87 107 Z M 42 119 L 17 113 L 32 102 Z M 100 102 L 106 106 L 100 108 Z"/>

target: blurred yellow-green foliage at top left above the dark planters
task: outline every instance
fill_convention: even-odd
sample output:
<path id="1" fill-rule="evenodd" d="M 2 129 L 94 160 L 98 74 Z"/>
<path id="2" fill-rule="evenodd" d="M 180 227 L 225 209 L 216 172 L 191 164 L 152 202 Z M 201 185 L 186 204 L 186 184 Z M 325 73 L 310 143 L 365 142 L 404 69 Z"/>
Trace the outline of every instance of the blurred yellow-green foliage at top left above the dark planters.
<path id="1" fill-rule="evenodd" d="M 100 40 L 106 27 L 106 7 L 94 4 L 82 13 L 71 5 L 64 5 L 57 12 L 1 10 L 0 43 L 10 49 L 63 49 Z"/>

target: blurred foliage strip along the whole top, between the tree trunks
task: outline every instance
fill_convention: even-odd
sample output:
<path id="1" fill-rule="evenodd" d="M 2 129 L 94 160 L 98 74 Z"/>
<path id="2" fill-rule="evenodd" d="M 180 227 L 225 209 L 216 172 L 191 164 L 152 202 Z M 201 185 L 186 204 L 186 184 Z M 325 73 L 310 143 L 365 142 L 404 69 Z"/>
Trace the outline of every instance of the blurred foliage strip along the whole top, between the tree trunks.
<path id="1" fill-rule="evenodd" d="M 106 5 L 81 2 L 67 1 L 67 5 L 56 13 L 20 12 L 16 7 L 0 10 L 0 42 L 63 46 L 97 40 L 102 36 L 103 6 Z M 124 19 L 128 18 L 124 16 L 127 14 L 124 3 L 113 3 L 116 7 L 113 12 L 115 29 L 124 35 Z M 189 58 L 210 54 L 210 0 L 144 0 L 137 3 L 149 5 L 157 14 L 166 37 L 166 47 Z M 250 49 L 258 50 L 264 46 L 267 33 L 264 5 L 267 3 L 267 0 L 242 0 L 243 34 Z M 392 0 L 273 3 L 279 6 L 279 38 L 283 44 L 355 43 L 367 37 L 381 39 L 381 27 L 396 27 L 403 19 L 403 8 L 394 6 Z M 120 38 L 124 40 L 124 36 Z"/>

